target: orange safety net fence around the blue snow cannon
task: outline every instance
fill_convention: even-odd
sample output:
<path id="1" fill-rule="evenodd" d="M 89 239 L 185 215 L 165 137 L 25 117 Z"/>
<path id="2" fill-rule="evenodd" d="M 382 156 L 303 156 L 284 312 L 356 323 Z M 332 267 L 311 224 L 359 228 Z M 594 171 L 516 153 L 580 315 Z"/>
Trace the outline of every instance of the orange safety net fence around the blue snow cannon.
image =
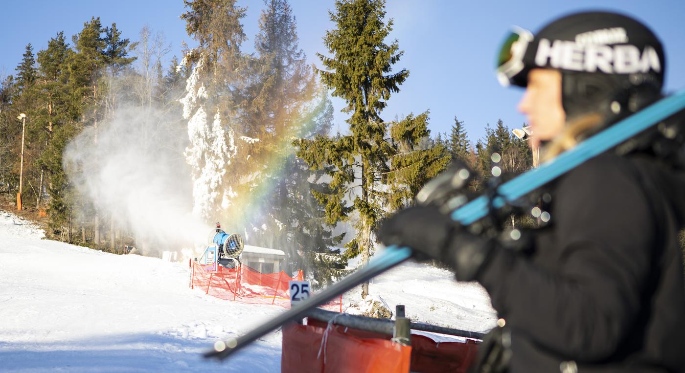
<path id="1" fill-rule="evenodd" d="M 225 300 L 258 305 L 290 308 L 288 281 L 303 281 L 299 270 L 295 277 L 286 272 L 261 273 L 249 266 L 225 268 L 215 264 L 190 262 L 190 287 Z M 323 306 L 331 311 L 343 311 L 343 296 Z"/>

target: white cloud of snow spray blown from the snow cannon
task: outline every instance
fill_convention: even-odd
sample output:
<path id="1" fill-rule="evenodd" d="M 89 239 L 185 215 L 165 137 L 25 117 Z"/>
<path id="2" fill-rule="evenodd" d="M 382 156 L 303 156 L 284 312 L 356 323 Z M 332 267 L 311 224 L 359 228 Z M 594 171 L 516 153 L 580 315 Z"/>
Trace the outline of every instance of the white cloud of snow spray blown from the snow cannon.
<path id="1" fill-rule="evenodd" d="M 206 244 L 211 228 L 192 215 L 180 110 L 118 104 L 66 147 L 64 167 L 73 185 L 103 219 L 133 233 L 145 255 Z"/>

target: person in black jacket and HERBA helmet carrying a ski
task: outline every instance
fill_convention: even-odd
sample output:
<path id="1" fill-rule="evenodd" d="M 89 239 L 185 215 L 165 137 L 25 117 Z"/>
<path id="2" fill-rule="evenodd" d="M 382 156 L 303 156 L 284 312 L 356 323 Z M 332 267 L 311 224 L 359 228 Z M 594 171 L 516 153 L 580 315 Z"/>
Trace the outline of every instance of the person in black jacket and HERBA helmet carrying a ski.
<path id="1" fill-rule="evenodd" d="M 536 35 L 516 29 L 498 64 L 504 85 L 525 87 L 519 110 L 548 158 L 658 100 L 664 81 L 656 36 L 610 12 L 564 16 Z M 685 371 L 685 174 L 644 142 L 548 185 L 551 220 L 527 250 L 435 206 L 404 209 L 379 228 L 384 244 L 439 259 L 488 291 L 500 319 L 475 370 Z"/>

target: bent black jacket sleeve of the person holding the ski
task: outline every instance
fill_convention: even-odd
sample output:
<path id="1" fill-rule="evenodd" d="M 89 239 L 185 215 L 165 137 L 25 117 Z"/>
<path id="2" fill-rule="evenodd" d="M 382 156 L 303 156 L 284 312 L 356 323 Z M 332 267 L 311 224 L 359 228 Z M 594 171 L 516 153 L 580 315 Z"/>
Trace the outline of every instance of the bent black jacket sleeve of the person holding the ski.
<path id="1" fill-rule="evenodd" d="M 626 162 L 600 157 L 560 181 L 551 217 L 560 270 L 497 249 L 479 276 L 512 331 L 578 361 L 619 348 L 651 266 L 653 213 Z"/>

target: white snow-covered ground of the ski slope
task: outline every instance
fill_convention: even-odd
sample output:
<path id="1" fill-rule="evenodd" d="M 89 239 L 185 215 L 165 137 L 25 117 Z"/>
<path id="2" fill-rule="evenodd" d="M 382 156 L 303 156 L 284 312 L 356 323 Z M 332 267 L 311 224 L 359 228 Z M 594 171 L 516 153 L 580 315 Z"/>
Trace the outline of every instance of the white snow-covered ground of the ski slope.
<path id="1" fill-rule="evenodd" d="M 188 264 L 113 255 L 43 240 L 0 211 L 0 372 L 278 372 L 281 335 L 225 363 L 201 358 L 284 311 L 220 300 L 188 288 Z M 487 294 L 446 270 L 407 263 L 371 283 L 412 320 L 472 331 L 495 324 Z M 358 292 L 344 298 L 360 305 Z M 352 311 L 352 309 L 350 309 Z"/>

